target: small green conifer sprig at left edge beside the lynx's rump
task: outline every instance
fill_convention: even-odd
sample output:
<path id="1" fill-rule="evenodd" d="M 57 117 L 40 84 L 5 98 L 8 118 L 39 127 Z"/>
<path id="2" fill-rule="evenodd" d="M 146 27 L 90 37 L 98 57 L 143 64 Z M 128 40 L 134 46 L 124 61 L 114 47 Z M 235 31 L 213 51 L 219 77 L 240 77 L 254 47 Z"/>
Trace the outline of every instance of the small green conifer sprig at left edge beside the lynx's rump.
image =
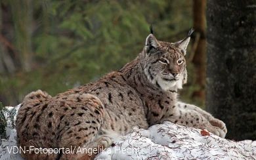
<path id="1" fill-rule="evenodd" d="M 6 136 L 6 127 L 7 121 L 10 121 L 11 129 L 15 128 L 15 121 L 14 115 L 16 115 L 16 110 L 8 110 L 7 108 L 3 107 L 2 103 L 0 102 L 0 138 L 7 138 Z"/>

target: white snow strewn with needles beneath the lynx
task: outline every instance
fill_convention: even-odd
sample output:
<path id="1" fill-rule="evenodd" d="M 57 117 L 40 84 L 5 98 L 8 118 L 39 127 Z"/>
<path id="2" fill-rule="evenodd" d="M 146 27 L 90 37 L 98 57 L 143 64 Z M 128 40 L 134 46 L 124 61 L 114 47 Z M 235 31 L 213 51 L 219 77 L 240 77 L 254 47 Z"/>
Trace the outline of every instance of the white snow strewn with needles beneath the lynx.
<path id="1" fill-rule="evenodd" d="M 0 146 L 0 159 L 22 160 L 19 153 L 13 153 L 17 150 L 9 153 L 16 146 L 16 130 L 7 127 L 7 135 Z M 211 133 L 203 136 L 200 129 L 168 121 L 148 130 L 135 127 L 130 134 L 113 141 L 96 159 L 256 159 L 256 141 L 235 142 Z"/>

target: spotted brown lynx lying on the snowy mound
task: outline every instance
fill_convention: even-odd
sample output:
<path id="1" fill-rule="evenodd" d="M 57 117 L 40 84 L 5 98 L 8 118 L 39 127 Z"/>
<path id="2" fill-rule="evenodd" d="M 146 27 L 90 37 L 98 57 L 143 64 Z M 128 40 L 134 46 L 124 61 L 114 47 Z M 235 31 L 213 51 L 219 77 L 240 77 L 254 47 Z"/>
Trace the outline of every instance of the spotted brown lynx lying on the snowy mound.
<path id="1" fill-rule="evenodd" d="M 133 127 L 148 127 L 171 121 L 226 134 L 225 124 L 200 108 L 177 100 L 186 83 L 188 36 L 176 43 L 158 41 L 153 32 L 139 56 L 119 71 L 96 83 L 52 97 L 37 90 L 28 94 L 16 118 L 18 146 L 22 148 L 91 148 L 96 153 L 22 153 L 25 159 L 93 159 L 107 148 L 114 136 Z M 75 149 L 76 151 L 77 149 Z"/>

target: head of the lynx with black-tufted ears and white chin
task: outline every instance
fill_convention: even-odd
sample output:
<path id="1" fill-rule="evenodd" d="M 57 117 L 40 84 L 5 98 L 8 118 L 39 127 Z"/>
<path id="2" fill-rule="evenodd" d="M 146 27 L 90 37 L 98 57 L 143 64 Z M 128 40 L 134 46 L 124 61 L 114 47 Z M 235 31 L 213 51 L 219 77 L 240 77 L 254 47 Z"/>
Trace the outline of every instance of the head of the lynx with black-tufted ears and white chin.
<path id="1" fill-rule="evenodd" d="M 163 90 L 182 89 L 186 83 L 186 47 L 188 37 L 176 43 L 158 41 L 152 34 L 146 37 L 146 45 L 142 51 L 142 66 L 148 80 Z"/>

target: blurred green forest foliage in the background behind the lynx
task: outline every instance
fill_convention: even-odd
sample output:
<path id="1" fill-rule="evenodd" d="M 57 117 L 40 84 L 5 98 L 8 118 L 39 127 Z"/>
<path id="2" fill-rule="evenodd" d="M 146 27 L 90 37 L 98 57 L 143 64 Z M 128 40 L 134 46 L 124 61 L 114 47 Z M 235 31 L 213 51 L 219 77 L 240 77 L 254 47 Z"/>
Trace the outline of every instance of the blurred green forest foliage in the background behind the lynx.
<path id="1" fill-rule="evenodd" d="M 12 10 L 14 24 L 30 30 L 16 28 L 18 37 L 12 43 L 21 49 L 20 64 L 28 63 L 24 56 L 31 53 L 31 70 L 21 67 L 14 75 L 0 75 L 0 94 L 10 98 L 12 105 L 22 102 L 32 90 L 42 89 L 54 96 L 119 70 L 142 50 L 150 24 L 163 41 L 181 40 L 192 26 L 192 2 L 186 0 L 24 1 L 32 3 L 28 10 L 33 16 L 23 18 L 32 20 L 20 23 Z M 20 33 L 24 31 L 32 32 L 23 34 L 26 41 Z M 182 33 L 179 39 L 177 33 Z"/>

